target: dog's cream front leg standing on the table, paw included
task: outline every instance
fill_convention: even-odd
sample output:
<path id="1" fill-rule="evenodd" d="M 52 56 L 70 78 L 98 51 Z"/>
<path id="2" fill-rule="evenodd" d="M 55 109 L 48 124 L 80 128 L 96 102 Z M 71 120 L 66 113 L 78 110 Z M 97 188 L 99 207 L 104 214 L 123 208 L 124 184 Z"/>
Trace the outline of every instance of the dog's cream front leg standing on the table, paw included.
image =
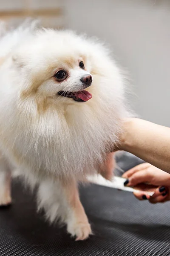
<path id="1" fill-rule="evenodd" d="M 50 222 L 56 220 L 67 225 L 67 231 L 76 240 L 85 240 L 91 234 L 91 226 L 79 199 L 75 180 L 44 180 L 38 189 L 38 207 L 45 210 Z"/>

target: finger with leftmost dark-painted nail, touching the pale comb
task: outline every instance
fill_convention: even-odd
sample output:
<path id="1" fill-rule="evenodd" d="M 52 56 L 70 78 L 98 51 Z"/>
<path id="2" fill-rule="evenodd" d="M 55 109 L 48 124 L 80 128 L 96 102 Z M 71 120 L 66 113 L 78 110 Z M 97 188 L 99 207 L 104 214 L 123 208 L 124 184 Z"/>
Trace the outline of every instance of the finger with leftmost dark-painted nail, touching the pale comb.
<path id="1" fill-rule="evenodd" d="M 139 172 L 135 172 L 128 180 L 125 181 L 127 186 L 136 186 L 139 183 L 150 182 L 152 175 L 148 172 L 147 169 L 144 169 Z"/>

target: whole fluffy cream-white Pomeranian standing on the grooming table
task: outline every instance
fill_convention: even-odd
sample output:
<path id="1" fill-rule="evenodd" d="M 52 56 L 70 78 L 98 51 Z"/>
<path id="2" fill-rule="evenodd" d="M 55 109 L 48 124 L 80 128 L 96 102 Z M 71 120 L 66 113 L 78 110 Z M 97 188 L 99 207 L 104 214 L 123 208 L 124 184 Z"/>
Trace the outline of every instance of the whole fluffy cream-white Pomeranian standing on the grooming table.
<path id="1" fill-rule="evenodd" d="M 0 29 L 0 205 L 11 203 L 18 169 L 46 218 L 87 239 L 77 187 L 96 172 L 112 177 L 109 152 L 129 115 L 124 78 L 96 40 L 34 22 Z"/>

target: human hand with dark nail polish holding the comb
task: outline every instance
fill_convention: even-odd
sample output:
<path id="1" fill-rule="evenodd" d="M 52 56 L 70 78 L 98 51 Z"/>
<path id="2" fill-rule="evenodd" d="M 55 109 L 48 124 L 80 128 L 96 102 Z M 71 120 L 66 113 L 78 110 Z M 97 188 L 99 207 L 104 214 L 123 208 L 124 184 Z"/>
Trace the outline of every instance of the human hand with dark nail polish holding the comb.
<path id="1" fill-rule="evenodd" d="M 170 200 L 170 174 L 149 163 L 142 163 L 130 169 L 122 177 L 127 178 L 125 182 L 127 186 L 135 186 L 137 188 L 140 183 L 149 183 L 157 187 L 153 196 L 148 195 L 147 192 L 135 191 L 133 194 L 139 200 L 148 199 L 153 204 Z M 150 188 L 148 184 L 142 184 L 142 186 L 145 191 Z"/>

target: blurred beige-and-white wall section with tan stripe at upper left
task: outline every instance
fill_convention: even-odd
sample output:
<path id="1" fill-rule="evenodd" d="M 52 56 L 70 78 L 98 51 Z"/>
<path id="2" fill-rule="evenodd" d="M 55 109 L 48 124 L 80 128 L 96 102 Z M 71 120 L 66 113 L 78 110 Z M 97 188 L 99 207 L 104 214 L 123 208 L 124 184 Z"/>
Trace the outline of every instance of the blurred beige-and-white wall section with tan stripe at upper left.
<path id="1" fill-rule="evenodd" d="M 18 26 L 27 17 L 40 19 L 45 27 L 63 27 L 62 0 L 0 0 L 0 20 L 7 27 Z"/>

